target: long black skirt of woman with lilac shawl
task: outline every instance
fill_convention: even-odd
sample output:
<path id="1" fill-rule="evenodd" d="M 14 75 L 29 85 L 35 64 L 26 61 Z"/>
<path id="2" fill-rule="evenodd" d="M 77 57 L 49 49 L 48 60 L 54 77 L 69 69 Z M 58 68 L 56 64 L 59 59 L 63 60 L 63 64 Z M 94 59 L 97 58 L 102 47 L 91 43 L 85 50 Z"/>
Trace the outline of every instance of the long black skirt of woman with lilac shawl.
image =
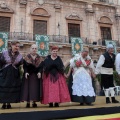
<path id="1" fill-rule="evenodd" d="M 20 102 L 20 88 L 19 69 L 9 65 L 0 70 L 0 103 Z"/>

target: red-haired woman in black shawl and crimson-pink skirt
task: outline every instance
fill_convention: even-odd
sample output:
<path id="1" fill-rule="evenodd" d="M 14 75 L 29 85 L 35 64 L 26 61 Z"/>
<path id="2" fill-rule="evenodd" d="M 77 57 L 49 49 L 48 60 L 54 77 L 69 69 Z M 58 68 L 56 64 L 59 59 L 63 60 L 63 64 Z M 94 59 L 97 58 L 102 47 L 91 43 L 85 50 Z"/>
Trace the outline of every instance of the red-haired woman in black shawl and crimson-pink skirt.
<path id="1" fill-rule="evenodd" d="M 64 74 L 64 65 L 57 56 L 58 47 L 53 46 L 51 55 L 48 55 L 43 62 L 43 104 L 49 107 L 59 107 L 59 103 L 69 102 L 70 95 Z"/>

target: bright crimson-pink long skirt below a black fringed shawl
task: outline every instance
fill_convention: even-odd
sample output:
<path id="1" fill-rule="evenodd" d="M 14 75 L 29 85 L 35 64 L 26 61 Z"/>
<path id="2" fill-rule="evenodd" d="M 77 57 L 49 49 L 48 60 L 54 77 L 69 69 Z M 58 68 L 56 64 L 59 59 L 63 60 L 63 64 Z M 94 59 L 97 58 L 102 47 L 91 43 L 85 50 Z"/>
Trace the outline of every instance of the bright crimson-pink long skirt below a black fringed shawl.
<path id="1" fill-rule="evenodd" d="M 59 74 L 56 82 L 50 80 L 50 75 L 44 75 L 43 79 L 43 104 L 51 102 L 63 103 L 70 102 L 70 95 L 65 77 Z"/>

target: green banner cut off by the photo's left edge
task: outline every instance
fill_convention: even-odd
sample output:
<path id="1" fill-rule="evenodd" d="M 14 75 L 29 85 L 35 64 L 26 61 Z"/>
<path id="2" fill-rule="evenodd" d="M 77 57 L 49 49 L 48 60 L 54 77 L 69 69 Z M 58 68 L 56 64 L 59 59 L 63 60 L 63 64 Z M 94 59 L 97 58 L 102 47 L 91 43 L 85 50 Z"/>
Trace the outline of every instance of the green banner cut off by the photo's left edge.
<path id="1" fill-rule="evenodd" d="M 0 52 L 7 49 L 8 33 L 0 32 Z"/>

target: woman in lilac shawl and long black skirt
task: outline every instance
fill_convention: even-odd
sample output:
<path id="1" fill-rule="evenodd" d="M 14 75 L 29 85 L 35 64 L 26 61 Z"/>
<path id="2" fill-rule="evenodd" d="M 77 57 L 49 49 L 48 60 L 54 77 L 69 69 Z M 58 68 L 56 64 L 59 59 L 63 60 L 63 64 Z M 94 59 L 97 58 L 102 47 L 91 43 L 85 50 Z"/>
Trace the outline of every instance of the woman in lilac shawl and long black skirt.
<path id="1" fill-rule="evenodd" d="M 19 42 L 12 42 L 11 49 L 2 52 L 0 62 L 0 103 L 2 109 L 10 109 L 10 103 L 20 102 L 20 70 L 22 55 L 19 53 Z"/>

